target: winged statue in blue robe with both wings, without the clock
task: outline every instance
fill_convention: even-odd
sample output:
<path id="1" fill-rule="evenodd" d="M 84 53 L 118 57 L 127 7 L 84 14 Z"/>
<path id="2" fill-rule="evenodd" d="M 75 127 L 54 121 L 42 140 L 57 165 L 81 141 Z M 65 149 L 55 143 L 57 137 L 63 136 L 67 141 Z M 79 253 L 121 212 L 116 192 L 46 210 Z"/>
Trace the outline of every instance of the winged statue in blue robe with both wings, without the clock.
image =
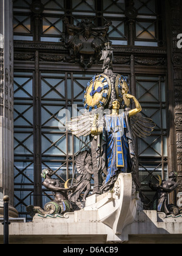
<path id="1" fill-rule="evenodd" d="M 122 111 L 120 100 L 114 99 L 110 104 L 110 113 L 102 115 L 101 110 L 97 109 L 76 116 L 67 123 L 68 129 L 76 137 L 90 135 L 90 138 L 97 140 L 97 159 L 101 161 L 104 179 L 102 192 L 112 187 L 121 171 L 133 172 L 135 176 L 137 170 L 133 138 L 147 137 L 155 127 L 152 119 L 141 115 L 141 105 L 135 96 L 128 93 L 124 96 L 127 105 L 130 99 L 134 101 L 135 108 L 126 105 Z"/>

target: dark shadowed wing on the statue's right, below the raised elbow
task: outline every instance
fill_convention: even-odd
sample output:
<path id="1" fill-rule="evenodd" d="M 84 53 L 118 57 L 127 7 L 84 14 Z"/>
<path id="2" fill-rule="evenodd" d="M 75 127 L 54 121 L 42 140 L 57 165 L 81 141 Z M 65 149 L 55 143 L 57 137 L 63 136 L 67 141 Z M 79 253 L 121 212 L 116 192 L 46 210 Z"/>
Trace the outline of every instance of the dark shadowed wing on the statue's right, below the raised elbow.
<path id="1" fill-rule="evenodd" d="M 130 125 L 133 137 L 140 138 L 149 136 L 155 128 L 155 123 L 153 123 L 152 119 L 142 116 L 141 113 L 130 118 Z"/>

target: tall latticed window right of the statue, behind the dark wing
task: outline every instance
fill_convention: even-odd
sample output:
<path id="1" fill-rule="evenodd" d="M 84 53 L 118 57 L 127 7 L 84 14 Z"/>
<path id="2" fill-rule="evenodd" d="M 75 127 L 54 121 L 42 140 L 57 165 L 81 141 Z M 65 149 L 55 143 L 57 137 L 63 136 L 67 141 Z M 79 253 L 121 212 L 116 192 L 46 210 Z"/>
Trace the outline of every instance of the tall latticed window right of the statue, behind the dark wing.
<path id="1" fill-rule="evenodd" d="M 136 76 L 136 98 L 142 115 L 151 118 L 155 129 L 146 138 L 138 138 L 138 163 L 141 188 L 149 199 L 152 191 L 149 181 L 167 173 L 166 85 L 164 77 Z M 163 102 L 163 104 L 161 104 Z M 151 198 L 150 198 L 151 197 Z"/>

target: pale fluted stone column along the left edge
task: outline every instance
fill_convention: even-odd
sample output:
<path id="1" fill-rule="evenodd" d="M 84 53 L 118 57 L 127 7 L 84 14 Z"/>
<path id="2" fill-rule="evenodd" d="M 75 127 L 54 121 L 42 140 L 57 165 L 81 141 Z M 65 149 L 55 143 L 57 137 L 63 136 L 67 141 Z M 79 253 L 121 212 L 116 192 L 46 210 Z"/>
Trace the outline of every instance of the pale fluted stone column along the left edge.
<path id="1" fill-rule="evenodd" d="M 13 174 L 13 1 L 0 0 L 0 193 L 14 199 Z M 0 215 L 3 213 L 2 198 Z M 9 214 L 18 216 L 10 206 Z"/>

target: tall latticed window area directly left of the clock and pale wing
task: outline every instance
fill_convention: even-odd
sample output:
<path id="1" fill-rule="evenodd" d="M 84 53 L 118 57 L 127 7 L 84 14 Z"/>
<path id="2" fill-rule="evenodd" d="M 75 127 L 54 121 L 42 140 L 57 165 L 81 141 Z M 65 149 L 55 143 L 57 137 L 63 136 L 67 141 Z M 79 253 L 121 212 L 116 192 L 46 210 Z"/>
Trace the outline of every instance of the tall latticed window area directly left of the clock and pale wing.
<path id="1" fill-rule="evenodd" d="M 92 74 L 87 77 L 78 73 L 41 75 L 42 166 L 58 169 L 56 173 L 64 182 L 72 177 L 75 154 L 88 144 L 85 138 L 78 139 L 66 130 L 66 121 L 83 109 L 83 91 Z"/>

